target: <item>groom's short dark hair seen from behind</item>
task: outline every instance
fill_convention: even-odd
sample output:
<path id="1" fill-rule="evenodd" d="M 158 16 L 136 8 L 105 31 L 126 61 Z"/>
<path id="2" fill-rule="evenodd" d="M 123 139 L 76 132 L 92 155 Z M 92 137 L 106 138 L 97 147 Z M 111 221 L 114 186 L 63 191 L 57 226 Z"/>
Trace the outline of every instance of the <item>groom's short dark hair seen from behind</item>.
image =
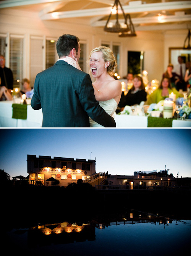
<path id="1" fill-rule="evenodd" d="M 77 36 L 70 34 L 60 36 L 57 41 L 58 57 L 61 58 L 62 56 L 68 56 L 73 48 L 75 48 L 76 52 L 78 52 L 78 42 L 79 38 Z"/>

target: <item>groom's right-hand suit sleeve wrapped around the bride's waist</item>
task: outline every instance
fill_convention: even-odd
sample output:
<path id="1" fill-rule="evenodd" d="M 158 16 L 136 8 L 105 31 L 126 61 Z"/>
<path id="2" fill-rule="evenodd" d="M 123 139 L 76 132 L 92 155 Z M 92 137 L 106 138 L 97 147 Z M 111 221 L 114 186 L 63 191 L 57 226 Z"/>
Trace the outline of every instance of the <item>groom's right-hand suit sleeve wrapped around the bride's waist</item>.
<path id="1" fill-rule="evenodd" d="M 79 100 L 83 109 L 87 112 L 95 122 L 104 127 L 116 127 L 113 117 L 108 115 L 103 108 L 99 106 L 94 95 L 91 78 L 88 74 L 84 74 L 79 87 Z"/>

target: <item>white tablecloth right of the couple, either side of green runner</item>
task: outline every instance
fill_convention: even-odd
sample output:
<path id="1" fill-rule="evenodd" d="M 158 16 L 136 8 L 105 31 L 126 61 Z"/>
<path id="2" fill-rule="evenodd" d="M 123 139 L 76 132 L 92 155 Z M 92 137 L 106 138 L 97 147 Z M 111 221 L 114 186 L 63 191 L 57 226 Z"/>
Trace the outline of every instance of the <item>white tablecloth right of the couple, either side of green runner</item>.
<path id="1" fill-rule="evenodd" d="M 160 118 L 160 117 L 159 117 Z M 146 116 L 131 116 L 131 115 L 115 115 L 116 128 L 146 128 Z M 187 120 L 173 120 L 172 127 L 191 127 L 191 119 Z"/>

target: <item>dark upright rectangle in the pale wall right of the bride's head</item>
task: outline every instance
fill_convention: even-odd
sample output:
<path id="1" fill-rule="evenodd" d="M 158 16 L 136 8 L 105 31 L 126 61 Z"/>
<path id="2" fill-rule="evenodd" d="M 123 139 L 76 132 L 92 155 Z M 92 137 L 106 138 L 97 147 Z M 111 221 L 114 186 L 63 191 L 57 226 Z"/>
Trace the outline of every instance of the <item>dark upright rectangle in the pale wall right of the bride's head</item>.
<path id="1" fill-rule="evenodd" d="M 144 70 L 144 51 L 128 51 L 127 59 L 127 73 L 132 73 L 133 75 L 142 74 L 142 70 Z"/>

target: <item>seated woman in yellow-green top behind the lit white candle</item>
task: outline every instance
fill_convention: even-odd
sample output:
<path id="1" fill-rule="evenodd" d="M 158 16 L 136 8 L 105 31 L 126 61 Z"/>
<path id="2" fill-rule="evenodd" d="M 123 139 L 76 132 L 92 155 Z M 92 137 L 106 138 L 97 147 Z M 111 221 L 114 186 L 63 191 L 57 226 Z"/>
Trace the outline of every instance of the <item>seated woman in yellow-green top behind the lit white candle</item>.
<path id="1" fill-rule="evenodd" d="M 175 88 L 172 88 L 170 84 L 170 78 L 164 77 L 160 83 L 160 86 L 157 90 L 155 90 L 151 95 L 149 95 L 147 104 L 158 103 L 165 98 L 169 98 L 169 94 L 174 93 L 176 98 L 183 97 Z"/>

